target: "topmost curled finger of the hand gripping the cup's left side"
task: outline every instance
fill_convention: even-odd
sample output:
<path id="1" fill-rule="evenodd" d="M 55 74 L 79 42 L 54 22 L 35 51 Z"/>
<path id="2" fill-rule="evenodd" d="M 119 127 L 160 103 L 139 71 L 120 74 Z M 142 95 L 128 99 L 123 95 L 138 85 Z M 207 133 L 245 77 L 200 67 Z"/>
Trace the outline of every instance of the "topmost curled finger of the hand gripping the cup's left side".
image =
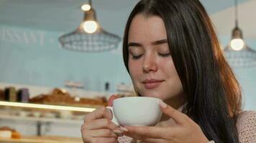
<path id="1" fill-rule="evenodd" d="M 93 112 L 91 112 L 90 114 L 88 114 L 85 117 L 84 122 L 89 122 L 94 119 L 101 119 L 101 118 L 112 119 L 111 111 L 109 109 L 106 109 L 106 107 L 100 107 L 94 110 Z"/>

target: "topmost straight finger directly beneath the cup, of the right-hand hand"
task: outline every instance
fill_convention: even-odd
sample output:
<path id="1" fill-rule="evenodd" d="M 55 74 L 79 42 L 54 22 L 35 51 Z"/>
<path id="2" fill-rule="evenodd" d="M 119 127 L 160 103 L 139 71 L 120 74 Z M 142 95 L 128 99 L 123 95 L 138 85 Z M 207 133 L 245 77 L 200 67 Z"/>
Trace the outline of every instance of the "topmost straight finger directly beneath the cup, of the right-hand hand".
<path id="1" fill-rule="evenodd" d="M 168 134 L 171 134 L 172 129 L 168 127 L 124 127 L 128 129 L 128 132 L 124 132 L 128 136 L 132 136 L 134 138 L 144 139 L 145 137 L 152 138 L 166 138 Z"/>

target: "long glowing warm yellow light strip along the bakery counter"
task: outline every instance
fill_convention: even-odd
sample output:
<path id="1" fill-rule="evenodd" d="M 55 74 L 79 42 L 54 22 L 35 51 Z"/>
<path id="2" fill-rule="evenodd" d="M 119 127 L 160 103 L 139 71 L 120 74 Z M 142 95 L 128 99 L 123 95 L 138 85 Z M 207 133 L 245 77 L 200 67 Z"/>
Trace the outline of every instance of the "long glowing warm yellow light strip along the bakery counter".
<path id="1" fill-rule="evenodd" d="M 19 103 L 19 102 L 0 102 L 0 105 L 9 107 L 27 107 L 27 108 L 39 108 L 39 109 L 57 109 L 57 110 L 68 110 L 76 112 L 93 112 L 94 108 L 85 107 L 66 107 L 58 105 L 46 105 L 46 104 L 31 104 L 31 103 Z"/>

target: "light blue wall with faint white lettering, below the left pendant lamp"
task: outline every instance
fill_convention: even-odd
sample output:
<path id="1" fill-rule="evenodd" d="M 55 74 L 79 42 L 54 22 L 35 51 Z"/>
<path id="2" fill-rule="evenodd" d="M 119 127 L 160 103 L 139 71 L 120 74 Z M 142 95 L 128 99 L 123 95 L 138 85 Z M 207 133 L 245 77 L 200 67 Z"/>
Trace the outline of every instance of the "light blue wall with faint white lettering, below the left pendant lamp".
<path id="1" fill-rule="evenodd" d="M 62 49 L 60 33 L 0 26 L 0 82 L 64 87 L 65 80 L 85 89 L 103 91 L 109 82 L 130 84 L 122 61 L 121 44 L 114 51 L 80 53 Z"/>

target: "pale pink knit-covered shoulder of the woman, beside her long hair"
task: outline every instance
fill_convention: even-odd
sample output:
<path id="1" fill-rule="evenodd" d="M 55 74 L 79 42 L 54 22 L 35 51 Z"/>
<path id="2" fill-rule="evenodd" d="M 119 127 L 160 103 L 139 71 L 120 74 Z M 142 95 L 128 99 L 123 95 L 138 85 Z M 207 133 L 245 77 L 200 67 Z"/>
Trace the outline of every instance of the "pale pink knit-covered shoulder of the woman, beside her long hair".
<path id="1" fill-rule="evenodd" d="M 256 141 L 256 112 L 244 111 L 237 117 L 237 132 L 239 142 Z"/>

